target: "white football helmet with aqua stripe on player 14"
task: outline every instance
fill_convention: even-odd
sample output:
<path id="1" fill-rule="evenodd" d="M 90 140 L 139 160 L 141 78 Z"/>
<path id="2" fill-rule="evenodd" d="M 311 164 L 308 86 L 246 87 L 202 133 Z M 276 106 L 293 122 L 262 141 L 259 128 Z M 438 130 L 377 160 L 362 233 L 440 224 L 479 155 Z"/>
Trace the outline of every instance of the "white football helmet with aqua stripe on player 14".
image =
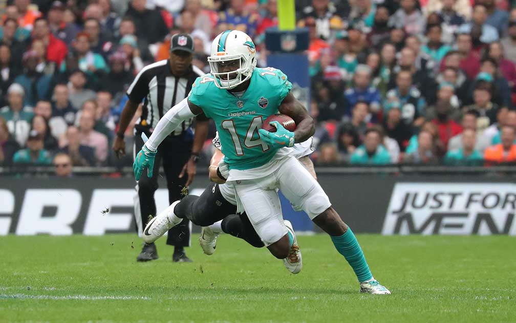
<path id="1" fill-rule="evenodd" d="M 246 82 L 256 67 L 256 47 L 251 37 L 239 30 L 226 30 L 215 37 L 208 57 L 209 68 L 220 89 L 232 89 Z M 227 70 L 233 67 L 232 70 Z"/>

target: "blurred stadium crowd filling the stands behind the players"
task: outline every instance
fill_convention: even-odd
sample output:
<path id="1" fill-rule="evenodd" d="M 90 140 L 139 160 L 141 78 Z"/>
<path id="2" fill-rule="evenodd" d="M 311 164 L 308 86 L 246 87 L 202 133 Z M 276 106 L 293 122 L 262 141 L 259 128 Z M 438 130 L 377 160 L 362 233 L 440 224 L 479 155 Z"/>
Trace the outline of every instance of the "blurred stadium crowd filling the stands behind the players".
<path id="1" fill-rule="evenodd" d="M 129 166 L 125 91 L 189 33 L 248 33 L 266 66 L 276 0 L 10 0 L 0 30 L 0 165 Z M 304 0 L 318 165 L 516 161 L 516 9 L 507 0 Z M 136 121 L 138 115 L 133 121 Z M 134 122 L 133 122 L 134 124 Z M 215 135 L 214 127 L 210 136 Z M 125 136 L 132 150 L 133 128 Z M 212 152 L 205 145 L 204 160 Z M 57 170 L 59 169 L 59 171 Z"/>

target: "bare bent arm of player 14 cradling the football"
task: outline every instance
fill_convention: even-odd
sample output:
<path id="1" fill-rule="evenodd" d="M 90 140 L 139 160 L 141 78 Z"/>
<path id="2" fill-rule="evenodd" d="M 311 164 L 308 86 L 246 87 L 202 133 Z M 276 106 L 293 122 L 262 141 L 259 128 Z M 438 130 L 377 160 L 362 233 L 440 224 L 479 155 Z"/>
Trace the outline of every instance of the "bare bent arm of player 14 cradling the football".
<path id="1" fill-rule="evenodd" d="M 294 131 L 295 142 L 303 142 L 314 135 L 314 119 L 310 117 L 307 109 L 292 93 L 288 93 L 285 96 L 278 109 L 282 114 L 291 117 L 296 122 L 296 130 Z"/>

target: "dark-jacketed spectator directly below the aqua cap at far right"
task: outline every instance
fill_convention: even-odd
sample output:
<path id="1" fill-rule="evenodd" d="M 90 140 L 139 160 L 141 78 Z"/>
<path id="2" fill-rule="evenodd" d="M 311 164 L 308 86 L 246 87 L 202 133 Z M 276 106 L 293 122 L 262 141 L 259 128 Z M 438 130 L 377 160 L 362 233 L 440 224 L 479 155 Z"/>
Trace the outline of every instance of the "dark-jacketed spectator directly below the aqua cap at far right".
<path id="1" fill-rule="evenodd" d="M 473 90 L 473 104 L 465 106 L 464 110 L 475 110 L 478 112 L 479 120 L 477 127 L 483 131 L 490 124 L 496 122 L 498 105 L 493 103 L 493 84 L 484 80 L 479 80 Z"/>

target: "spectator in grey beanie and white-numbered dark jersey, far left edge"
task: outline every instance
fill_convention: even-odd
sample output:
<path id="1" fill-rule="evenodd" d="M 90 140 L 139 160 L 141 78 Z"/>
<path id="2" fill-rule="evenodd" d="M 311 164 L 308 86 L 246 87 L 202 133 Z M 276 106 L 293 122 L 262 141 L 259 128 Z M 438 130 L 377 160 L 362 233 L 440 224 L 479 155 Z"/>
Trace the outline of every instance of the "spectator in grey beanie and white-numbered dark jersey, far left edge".
<path id="1" fill-rule="evenodd" d="M 4 118 L 9 128 L 9 133 L 20 144 L 25 146 L 30 130 L 30 120 L 34 114 L 31 107 L 23 104 L 25 91 L 18 83 L 13 83 L 7 89 L 7 106 L 0 109 L 0 117 Z"/>

